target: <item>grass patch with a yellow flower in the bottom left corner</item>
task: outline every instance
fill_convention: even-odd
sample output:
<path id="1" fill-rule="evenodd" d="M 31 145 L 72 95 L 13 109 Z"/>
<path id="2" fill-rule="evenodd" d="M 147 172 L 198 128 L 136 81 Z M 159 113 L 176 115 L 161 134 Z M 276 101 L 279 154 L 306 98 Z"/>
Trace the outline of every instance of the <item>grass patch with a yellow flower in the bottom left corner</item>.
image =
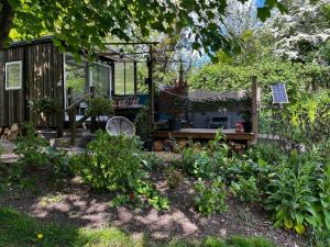
<path id="1" fill-rule="evenodd" d="M 87 229 L 36 221 L 10 209 L 0 209 L 1 247 L 142 246 L 118 228 Z"/>

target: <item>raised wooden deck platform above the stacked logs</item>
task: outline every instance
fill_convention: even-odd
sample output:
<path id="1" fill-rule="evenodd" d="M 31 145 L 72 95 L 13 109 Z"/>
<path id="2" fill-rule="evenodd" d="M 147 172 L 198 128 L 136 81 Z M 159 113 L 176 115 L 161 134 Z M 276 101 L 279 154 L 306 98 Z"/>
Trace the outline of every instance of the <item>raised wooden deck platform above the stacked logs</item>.
<path id="1" fill-rule="evenodd" d="M 194 138 L 213 139 L 218 130 L 210 128 L 182 128 L 180 131 L 154 131 L 154 138 Z M 254 139 L 253 133 L 237 133 L 235 130 L 223 130 L 228 141 L 242 141 L 250 143 Z"/>

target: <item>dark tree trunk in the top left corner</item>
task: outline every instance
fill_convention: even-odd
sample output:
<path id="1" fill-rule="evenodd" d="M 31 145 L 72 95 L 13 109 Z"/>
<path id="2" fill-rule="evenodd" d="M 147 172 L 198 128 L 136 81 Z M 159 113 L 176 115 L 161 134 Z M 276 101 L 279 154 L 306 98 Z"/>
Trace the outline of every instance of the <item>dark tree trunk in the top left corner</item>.
<path id="1" fill-rule="evenodd" d="M 11 30 L 14 18 L 14 9 L 8 0 L 0 0 L 0 49 L 4 48 L 6 41 Z"/>

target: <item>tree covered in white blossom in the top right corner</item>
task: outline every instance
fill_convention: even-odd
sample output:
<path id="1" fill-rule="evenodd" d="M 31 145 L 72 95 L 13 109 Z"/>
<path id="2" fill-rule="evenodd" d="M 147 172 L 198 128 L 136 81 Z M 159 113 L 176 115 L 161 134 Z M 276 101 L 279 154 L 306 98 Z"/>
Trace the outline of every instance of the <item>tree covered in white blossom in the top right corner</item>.
<path id="1" fill-rule="evenodd" d="M 274 52 L 294 61 L 308 63 L 330 40 L 329 0 L 288 1 L 288 13 L 266 22 L 273 34 Z"/>

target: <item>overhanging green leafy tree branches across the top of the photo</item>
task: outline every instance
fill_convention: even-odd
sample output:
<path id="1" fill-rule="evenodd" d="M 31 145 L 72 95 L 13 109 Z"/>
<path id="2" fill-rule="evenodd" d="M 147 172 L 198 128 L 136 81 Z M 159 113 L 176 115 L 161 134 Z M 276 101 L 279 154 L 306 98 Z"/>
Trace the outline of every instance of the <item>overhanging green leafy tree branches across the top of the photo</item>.
<path id="1" fill-rule="evenodd" d="M 15 30 L 24 38 L 54 34 L 73 50 L 90 52 L 101 48 L 108 34 L 129 41 L 135 25 L 142 37 L 151 30 L 172 35 L 189 27 L 195 49 L 230 50 L 234 41 L 216 24 L 223 22 L 226 8 L 227 0 L 0 0 L 0 48 Z M 273 8 L 284 9 L 278 0 L 266 0 L 258 18 L 265 20 Z"/>

